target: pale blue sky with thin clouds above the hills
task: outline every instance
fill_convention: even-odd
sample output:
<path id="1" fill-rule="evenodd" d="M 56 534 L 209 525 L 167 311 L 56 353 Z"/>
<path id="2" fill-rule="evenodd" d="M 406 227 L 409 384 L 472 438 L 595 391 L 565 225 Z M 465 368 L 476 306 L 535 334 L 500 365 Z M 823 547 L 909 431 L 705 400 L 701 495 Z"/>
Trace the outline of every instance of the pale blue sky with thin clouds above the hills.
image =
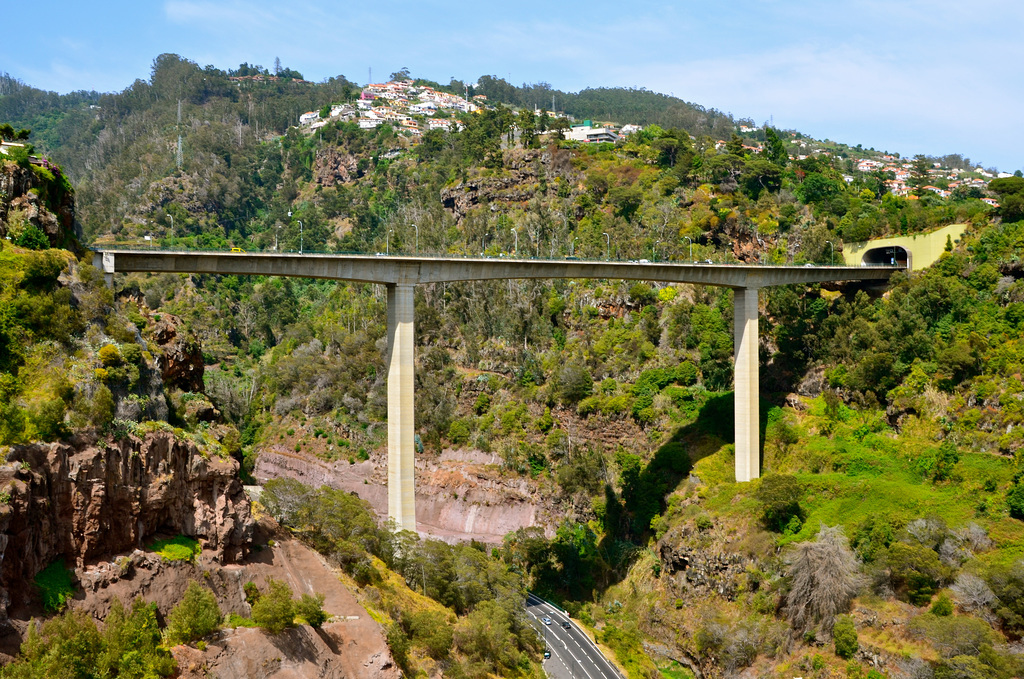
<path id="1" fill-rule="evenodd" d="M 310 80 L 408 67 L 646 87 L 818 138 L 1024 168 L 1020 0 L 51 0 L 4 19 L 0 71 L 58 92 L 121 90 L 163 52 L 222 69 L 280 56 Z"/>

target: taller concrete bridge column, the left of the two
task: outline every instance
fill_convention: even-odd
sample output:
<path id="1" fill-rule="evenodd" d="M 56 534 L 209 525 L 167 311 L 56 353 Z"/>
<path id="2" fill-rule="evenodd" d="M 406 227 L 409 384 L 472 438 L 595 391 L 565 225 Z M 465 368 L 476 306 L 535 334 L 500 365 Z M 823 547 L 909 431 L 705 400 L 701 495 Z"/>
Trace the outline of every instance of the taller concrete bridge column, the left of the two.
<path id="1" fill-rule="evenodd" d="M 416 531 L 413 291 L 387 287 L 387 515 L 399 531 Z"/>

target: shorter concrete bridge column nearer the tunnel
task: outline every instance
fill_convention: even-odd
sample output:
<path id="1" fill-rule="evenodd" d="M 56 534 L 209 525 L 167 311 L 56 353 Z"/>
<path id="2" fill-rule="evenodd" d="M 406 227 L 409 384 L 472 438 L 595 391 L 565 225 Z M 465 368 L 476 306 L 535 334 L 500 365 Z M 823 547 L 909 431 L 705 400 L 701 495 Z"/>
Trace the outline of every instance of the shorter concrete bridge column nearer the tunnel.
<path id="1" fill-rule="evenodd" d="M 758 288 L 733 291 L 735 343 L 736 480 L 761 476 L 761 422 L 758 408 Z"/>

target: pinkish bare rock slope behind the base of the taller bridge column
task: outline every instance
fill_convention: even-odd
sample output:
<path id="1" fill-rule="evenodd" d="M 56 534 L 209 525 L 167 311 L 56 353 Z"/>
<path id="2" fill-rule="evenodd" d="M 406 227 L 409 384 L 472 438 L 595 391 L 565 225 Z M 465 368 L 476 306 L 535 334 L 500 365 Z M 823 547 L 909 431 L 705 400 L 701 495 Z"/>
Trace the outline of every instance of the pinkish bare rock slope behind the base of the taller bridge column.
<path id="1" fill-rule="evenodd" d="M 505 534 L 540 526 L 553 533 L 559 516 L 529 479 L 506 478 L 498 456 L 476 451 L 445 451 L 437 459 L 416 461 L 416 522 L 442 540 L 501 543 Z M 254 472 L 269 478 L 295 478 L 307 485 L 329 485 L 354 493 L 387 518 L 387 462 L 325 463 L 278 447 L 260 451 Z"/>

